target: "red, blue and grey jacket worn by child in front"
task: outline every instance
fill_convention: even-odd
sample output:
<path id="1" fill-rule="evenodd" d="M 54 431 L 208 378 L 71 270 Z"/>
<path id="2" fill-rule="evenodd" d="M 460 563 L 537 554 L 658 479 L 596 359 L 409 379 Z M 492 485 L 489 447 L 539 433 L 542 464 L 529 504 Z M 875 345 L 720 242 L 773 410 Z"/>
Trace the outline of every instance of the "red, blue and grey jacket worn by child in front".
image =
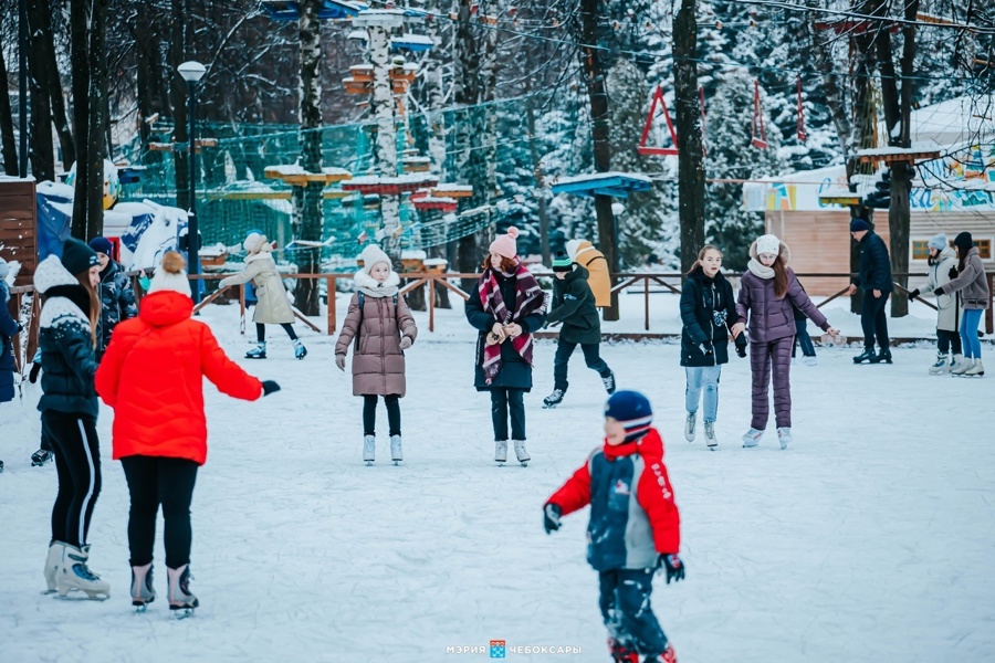
<path id="1" fill-rule="evenodd" d="M 649 568 L 681 547 L 681 518 L 657 429 L 637 442 L 607 442 L 546 504 L 563 515 L 590 504 L 588 561 L 598 570 Z"/>

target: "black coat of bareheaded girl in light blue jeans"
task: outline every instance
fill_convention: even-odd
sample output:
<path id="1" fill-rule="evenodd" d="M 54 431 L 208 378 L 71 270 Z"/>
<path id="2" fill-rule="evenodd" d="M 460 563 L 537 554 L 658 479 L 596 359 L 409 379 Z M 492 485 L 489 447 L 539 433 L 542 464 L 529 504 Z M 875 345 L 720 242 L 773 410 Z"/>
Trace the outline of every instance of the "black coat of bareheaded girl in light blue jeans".
<path id="1" fill-rule="evenodd" d="M 722 275 L 705 276 L 694 267 L 681 292 L 681 366 L 729 364 L 729 329 L 736 323 L 736 299 L 732 285 Z M 702 345 L 711 345 L 705 355 Z"/>

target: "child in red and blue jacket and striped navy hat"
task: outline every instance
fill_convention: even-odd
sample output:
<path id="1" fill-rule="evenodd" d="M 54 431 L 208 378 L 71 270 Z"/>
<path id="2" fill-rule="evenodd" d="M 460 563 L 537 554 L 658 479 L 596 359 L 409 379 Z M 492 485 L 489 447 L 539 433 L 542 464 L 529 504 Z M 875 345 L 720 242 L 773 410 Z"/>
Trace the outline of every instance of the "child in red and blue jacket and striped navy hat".
<path id="1" fill-rule="evenodd" d="M 600 608 L 611 656 L 621 663 L 677 663 L 650 607 L 653 573 L 684 577 L 681 519 L 663 465 L 663 441 L 649 400 L 618 391 L 605 406 L 605 444 L 546 501 L 546 534 L 561 516 L 590 505 L 587 561 L 599 573 Z"/>

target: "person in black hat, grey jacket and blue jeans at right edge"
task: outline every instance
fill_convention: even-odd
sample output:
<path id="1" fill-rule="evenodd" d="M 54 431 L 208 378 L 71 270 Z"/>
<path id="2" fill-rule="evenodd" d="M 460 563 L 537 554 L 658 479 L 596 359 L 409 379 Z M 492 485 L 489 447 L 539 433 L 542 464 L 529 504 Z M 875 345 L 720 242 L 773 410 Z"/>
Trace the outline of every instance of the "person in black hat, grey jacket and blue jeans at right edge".
<path id="1" fill-rule="evenodd" d="M 977 338 L 977 325 L 982 313 L 988 307 L 988 278 L 982 263 L 977 246 L 970 232 L 962 232 L 954 238 L 957 248 L 957 271 L 949 282 L 935 291 L 940 295 L 957 293 L 961 298 L 961 343 L 964 346 L 964 362 L 952 369 L 953 376 L 981 377 L 985 367 L 981 360 L 981 340 Z"/>

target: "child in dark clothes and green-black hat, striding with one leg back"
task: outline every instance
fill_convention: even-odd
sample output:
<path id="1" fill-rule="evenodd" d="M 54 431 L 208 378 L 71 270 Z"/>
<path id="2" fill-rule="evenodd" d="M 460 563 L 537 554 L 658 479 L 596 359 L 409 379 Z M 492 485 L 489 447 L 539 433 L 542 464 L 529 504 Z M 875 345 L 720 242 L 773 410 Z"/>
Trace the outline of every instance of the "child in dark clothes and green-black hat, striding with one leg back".
<path id="1" fill-rule="evenodd" d="M 553 259 L 553 305 L 546 315 L 546 326 L 563 323 L 553 359 L 553 393 L 543 400 L 543 407 L 555 408 L 563 401 L 569 381 L 567 368 L 577 346 L 584 352 L 587 368 L 597 371 L 605 390 L 615 393 L 615 373 L 601 359 L 601 320 L 595 306 L 594 293 L 587 283 L 588 271 L 569 256 L 559 252 Z"/>

